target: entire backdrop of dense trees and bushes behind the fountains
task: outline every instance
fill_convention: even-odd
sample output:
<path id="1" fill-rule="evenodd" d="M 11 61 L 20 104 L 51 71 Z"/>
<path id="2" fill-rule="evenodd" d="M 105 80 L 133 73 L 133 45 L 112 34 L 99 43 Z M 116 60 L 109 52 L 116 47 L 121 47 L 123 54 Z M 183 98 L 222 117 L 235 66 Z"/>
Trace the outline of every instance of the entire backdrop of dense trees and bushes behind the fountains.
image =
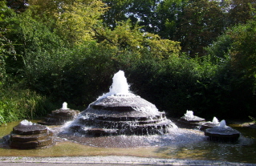
<path id="1" fill-rule="evenodd" d="M 256 116 L 252 0 L 0 2 L 0 123 L 83 110 L 125 72 L 168 115 Z"/>

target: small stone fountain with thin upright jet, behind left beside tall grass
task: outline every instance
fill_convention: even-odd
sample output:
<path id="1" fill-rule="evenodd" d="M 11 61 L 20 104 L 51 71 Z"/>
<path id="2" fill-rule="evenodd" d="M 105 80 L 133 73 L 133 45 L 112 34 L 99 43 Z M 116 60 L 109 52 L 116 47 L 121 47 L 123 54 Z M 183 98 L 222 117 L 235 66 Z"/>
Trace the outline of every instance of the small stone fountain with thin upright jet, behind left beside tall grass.
<path id="1" fill-rule="evenodd" d="M 75 119 L 79 113 L 80 111 L 78 110 L 67 108 L 67 103 L 64 102 L 62 108 L 51 111 L 51 114 L 48 114 L 43 121 L 39 121 L 38 123 L 43 125 L 63 125 L 67 121 Z"/>

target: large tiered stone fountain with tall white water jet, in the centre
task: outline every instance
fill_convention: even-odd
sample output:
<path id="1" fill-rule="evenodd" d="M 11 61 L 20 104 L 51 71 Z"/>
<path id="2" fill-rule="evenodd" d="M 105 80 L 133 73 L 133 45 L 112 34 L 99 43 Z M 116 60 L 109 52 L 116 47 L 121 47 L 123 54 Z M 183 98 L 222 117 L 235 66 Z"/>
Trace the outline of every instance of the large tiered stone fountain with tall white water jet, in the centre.
<path id="1" fill-rule="evenodd" d="M 117 72 L 107 94 L 100 96 L 68 126 L 79 135 L 153 135 L 175 124 L 165 112 L 129 91 L 124 71 Z"/>

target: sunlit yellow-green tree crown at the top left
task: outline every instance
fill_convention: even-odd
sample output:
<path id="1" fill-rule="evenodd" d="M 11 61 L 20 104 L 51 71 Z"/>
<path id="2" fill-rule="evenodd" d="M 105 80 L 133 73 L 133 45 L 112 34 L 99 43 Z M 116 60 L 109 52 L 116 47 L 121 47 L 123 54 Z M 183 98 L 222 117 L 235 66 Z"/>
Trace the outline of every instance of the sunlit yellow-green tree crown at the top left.
<path id="1" fill-rule="evenodd" d="M 30 9 L 35 19 L 41 19 L 51 26 L 71 46 L 93 40 L 92 30 L 100 16 L 108 9 L 97 0 L 44 1 L 32 3 Z M 49 21 L 51 20 L 51 21 Z"/>

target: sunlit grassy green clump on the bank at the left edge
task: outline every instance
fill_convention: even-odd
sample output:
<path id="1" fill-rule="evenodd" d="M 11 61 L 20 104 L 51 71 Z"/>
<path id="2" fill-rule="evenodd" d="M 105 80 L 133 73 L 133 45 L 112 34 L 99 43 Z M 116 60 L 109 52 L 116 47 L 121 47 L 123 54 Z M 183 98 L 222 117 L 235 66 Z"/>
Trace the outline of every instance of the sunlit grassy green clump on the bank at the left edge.
<path id="1" fill-rule="evenodd" d="M 22 90 L 20 87 L 1 89 L 0 125 L 18 119 L 40 118 L 54 108 L 51 99 L 35 91 Z"/>

